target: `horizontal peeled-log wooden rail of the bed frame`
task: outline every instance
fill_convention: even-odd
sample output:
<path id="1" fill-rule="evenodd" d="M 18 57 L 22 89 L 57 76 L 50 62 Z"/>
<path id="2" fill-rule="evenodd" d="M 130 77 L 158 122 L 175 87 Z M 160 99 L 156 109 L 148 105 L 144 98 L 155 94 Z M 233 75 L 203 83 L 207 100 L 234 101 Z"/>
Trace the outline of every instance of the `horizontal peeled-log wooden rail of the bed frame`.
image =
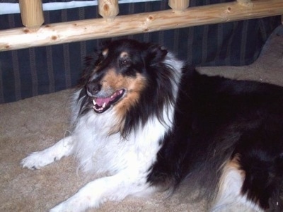
<path id="1" fill-rule="evenodd" d="M 28 28 L 0 31 L 0 51 L 23 49 L 105 37 L 117 37 L 194 25 L 225 23 L 283 14 L 283 0 L 237 1 L 209 6 L 117 16 L 112 22 L 103 18 L 42 25 L 33 32 Z"/>

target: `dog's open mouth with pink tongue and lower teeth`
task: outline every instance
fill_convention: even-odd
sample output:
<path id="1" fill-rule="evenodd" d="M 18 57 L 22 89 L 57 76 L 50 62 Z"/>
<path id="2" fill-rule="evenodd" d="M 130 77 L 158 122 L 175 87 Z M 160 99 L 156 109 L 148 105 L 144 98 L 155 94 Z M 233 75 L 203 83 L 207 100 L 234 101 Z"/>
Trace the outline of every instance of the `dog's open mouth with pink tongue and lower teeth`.
<path id="1" fill-rule="evenodd" d="M 102 113 L 108 110 L 111 105 L 113 105 L 115 102 L 120 100 L 122 96 L 124 95 L 125 90 L 117 90 L 115 93 L 113 93 L 108 98 L 94 98 L 93 99 L 93 110 L 97 113 Z"/>

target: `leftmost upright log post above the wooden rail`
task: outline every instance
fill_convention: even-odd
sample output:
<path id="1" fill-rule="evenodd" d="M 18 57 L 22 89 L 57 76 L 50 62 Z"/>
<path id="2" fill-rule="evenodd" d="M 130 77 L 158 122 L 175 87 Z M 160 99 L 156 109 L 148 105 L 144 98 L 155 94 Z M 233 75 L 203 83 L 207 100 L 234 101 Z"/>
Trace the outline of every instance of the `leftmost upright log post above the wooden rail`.
<path id="1" fill-rule="evenodd" d="M 44 23 L 42 0 L 20 0 L 22 23 L 31 31 L 36 31 Z"/>

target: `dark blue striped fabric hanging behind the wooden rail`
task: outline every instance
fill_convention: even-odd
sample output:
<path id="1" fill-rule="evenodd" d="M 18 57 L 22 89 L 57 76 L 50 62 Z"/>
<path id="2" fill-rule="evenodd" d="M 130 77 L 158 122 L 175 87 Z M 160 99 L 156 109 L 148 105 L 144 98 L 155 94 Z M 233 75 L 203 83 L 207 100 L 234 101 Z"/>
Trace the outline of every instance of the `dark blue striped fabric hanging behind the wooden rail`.
<path id="1" fill-rule="evenodd" d="M 224 0 L 191 0 L 190 6 L 220 2 Z M 166 9 L 168 1 L 125 3 L 120 5 L 120 15 Z M 97 6 L 45 11 L 44 16 L 45 24 L 99 17 Z M 267 37 L 279 24 L 280 17 L 276 16 L 127 37 L 160 43 L 192 65 L 242 66 L 258 58 Z M 21 26 L 19 13 L 0 16 L 0 36 L 1 30 Z M 0 52 L 0 103 L 75 86 L 83 69 L 83 58 L 101 41 Z"/>

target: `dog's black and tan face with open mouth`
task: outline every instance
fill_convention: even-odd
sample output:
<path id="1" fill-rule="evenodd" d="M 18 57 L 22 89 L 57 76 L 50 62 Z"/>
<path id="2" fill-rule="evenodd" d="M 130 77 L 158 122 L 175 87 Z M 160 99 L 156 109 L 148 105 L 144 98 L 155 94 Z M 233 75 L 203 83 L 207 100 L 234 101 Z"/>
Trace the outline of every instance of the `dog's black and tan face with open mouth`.
<path id="1" fill-rule="evenodd" d="M 117 112 L 124 113 L 137 104 L 148 84 L 148 66 L 167 54 L 160 47 L 146 45 L 117 40 L 102 49 L 86 81 L 86 93 L 93 100 L 95 112 L 103 113 L 115 107 Z"/>

